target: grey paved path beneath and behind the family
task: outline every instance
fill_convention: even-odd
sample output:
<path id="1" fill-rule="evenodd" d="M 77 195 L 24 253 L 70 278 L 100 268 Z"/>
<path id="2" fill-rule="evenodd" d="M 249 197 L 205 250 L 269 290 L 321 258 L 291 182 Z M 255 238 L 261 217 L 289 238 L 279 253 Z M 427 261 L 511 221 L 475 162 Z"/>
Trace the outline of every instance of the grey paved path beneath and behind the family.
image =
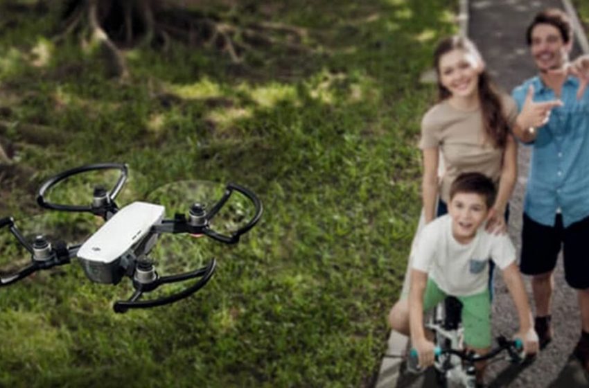
<path id="1" fill-rule="evenodd" d="M 568 0 L 461 0 L 468 17 L 462 30 L 480 48 L 493 78 L 510 92 L 522 80 L 535 75 L 535 67 L 525 44 L 525 28 L 531 17 L 543 8 L 570 10 Z M 572 58 L 582 52 L 585 44 L 576 43 Z M 513 243 L 520 248 L 522 197 L 525 191 L 529 150 L 520 147 L 518 155 L 518 184 L 513 193 L 509 229 Z M 493 303 L 493 334 L 509 335 L 517 329 L 517 315 L 507 288 L 495 277 Z M 580 317 L 576 293 L 565 283 L 562 261 L 556 271 L 554 292 L 555 341 L 525 368 L 509 369 L 504 362 L 489 367 L 486 382 L 490 387 L 589 387 L 580 364 L 570 357 L 580 333 Z M 529 283 L 528 281 L 526 283 Z M 529 284 L 527 284 L 529 286 Z M 529 295 L 531 290 L 528 288 Z M 405 344 L 403 336 L 392 333 L 389 351 L 400 353 Z M 397 349 L 394 349 L 394 348 Z M 377 388 L 435 387 L 433 373 L 409 376 L 403 373 L 401 359 L 385 359 L 381 365 Z"/>

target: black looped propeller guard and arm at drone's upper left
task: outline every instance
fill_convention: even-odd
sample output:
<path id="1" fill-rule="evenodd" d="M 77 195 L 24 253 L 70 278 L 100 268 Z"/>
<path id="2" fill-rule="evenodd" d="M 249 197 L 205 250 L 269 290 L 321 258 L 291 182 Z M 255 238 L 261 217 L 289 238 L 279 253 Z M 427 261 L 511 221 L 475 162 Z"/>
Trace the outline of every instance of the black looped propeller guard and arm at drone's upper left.
<path id="1" fill-rule="evenodd" d="M 110 192 L 98 192 L 94 193 L 94 201 L 92 204 L 89 205 L 65 205 L 65 204 L 54 204 L 48 202 L 45 199 L 45 195 L 50 188 L 62 182 L 64 179 L 72 177 L 73 175 L 78 175 L 81 173 L 87 173 L 88 171 L 96 171 L 96 170 L 120 170 L 121 175 L 118 177 L 118 180 L 114 187 L 111 189 Z M 93 213 L 96 215 L 100 215 L 103 218 L 107 218 L 109 213 L 114 214 L 118 210 L 116 204 L 114 203 L 114 199 L 123 188 L 123 184 L 127 181 L 127 174 L 128 174 L 128 166 L 126 164 L 118 164 L 118 163 L 99 163 L 99 164 L 89 164 L 87 166 L 81 166 L 77 168 L 72 168 L 71 170 L 64 171 L 54 177 L 48 179 L 39 189 L 39 194 L 37 195 L 37 203 L 39 206 L 44 207 L 45 209 L 52 209 L 52 210 L 61 210 L 61 211 L 87 211 L 89 213 Z"/>

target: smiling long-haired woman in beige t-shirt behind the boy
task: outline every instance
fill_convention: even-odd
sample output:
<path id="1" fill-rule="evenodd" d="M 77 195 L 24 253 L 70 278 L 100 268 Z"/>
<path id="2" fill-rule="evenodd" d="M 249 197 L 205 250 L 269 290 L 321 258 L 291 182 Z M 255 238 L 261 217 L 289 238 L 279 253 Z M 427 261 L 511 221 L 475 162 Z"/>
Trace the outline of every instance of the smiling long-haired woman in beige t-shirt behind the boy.
<path id="1" fill-rule="evenodd" d="M 450 184 L 458 175 L 477 172 L 498 186 L 486 229 L 502 233 L 507 230 L 504 215 L 517 177 L 517 145 L 510 131 L 518 114 L 516 103 L 498 93 L 479 51 L 466 37 L 440 42 L 434 64 L 439 103 L 423 116 L 419 143 L 425 223 L 447 213 Z M 445 166 L 441 181 L 440 155 Z"/>

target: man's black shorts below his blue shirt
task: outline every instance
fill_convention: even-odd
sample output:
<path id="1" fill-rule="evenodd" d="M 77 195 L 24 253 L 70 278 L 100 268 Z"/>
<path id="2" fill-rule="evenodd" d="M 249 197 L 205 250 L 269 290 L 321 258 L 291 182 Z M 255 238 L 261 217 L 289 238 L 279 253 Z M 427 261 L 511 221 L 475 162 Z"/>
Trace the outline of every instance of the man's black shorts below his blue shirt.
<path id="1" fill-rule="evenodd" d="M 562 215 L 556 214 L 553 227 L 523 215 L 522 274 L 538 275 L 554 270 L 563 247 L 565 279 L 572 288 L 589 288 L 589 217 L 563 227 Z"/>

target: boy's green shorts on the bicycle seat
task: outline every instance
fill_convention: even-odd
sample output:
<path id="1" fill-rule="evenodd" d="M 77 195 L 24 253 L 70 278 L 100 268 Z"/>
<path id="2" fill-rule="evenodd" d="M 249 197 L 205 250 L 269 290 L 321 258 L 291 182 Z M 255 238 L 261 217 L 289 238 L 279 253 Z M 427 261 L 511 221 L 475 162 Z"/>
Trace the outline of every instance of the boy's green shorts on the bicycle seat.
<path id="1" fill-rule="evenodd" d="M 423 294 L 423 310 L 434 308 L 446 299 L 448 295 L 440 290 L 438 285 L 428 278 L 428 286 Z M 468 297 L 456 297 L 462 303 L 462 327 L 464 328 L 464 342 L 475 349 L 491 346 L 491 299 L 489 288 L 480 294 Z"/>

